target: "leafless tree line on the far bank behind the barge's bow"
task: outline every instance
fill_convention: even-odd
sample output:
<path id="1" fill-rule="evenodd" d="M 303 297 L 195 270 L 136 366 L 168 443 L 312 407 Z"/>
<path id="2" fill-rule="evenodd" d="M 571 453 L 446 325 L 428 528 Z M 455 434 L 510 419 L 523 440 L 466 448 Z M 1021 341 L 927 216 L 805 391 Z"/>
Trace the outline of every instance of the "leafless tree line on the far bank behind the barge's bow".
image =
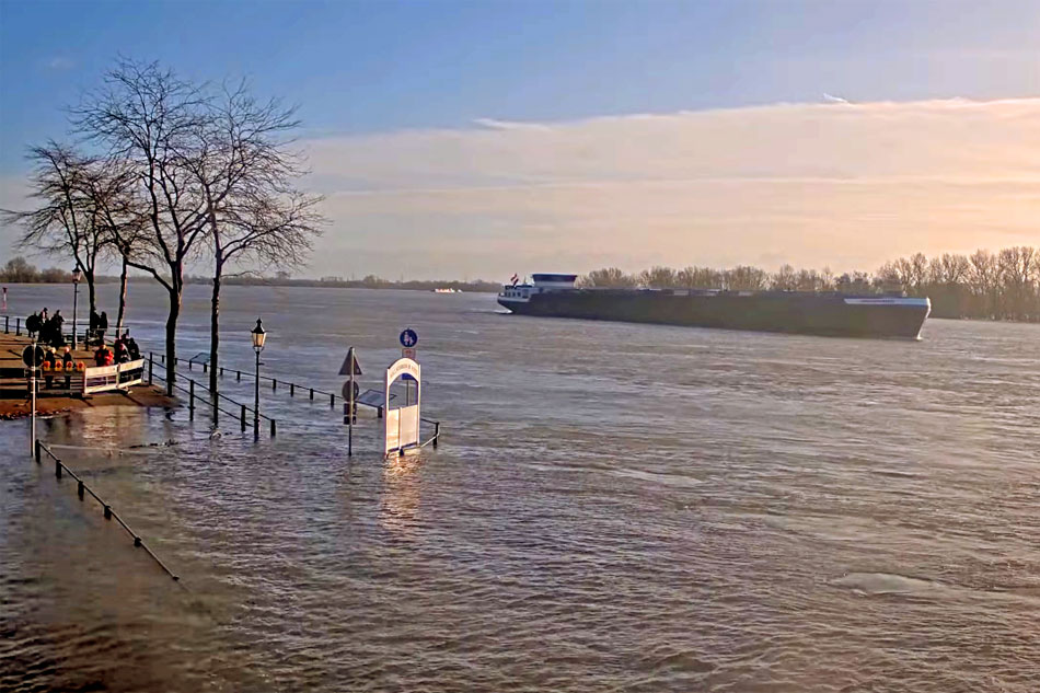
<path id="1" fill-rule="evenodd" d="M 650 267 L 626 274 L 617 267 L 596 269 L 578 279 L 585 287 L 721 289 L 727 291 L 836 291 L 841 293 L 904 292 L 932 299 L 936 317 L 1040 322 L 1040 250 L 1006 247 L 971 255 L 916 253 L 886 263 L 874 274 L 835 275 L 830 269 L 782 266 L 770 273 L 747 265 Z"/>

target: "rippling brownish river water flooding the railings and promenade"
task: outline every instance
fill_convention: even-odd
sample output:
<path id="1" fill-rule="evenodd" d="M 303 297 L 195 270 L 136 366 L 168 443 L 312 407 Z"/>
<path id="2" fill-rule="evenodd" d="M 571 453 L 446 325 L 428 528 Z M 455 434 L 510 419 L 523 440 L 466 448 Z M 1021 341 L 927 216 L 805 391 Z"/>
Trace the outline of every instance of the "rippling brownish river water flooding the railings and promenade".
<path id="1" fill-rule="evenodd" d="M 68 293 L 11 287 L 11 311 Z M 131 287 L 146 348 L 163 300 Z M 183 409 L 45 421 L 182 589 L 3 423 L 0 689 L 1037 690 L 1040 326 L 836 339 L 229 287 L 227 366 L 252 369 L 257 315 L 265 371 L 335 392 L 348 345 L 378 386 L 415 328 L 443 444 L 383 462 L 362 418 L 348 460 L 339 413 L 284 386 L 258 443 Z"/>

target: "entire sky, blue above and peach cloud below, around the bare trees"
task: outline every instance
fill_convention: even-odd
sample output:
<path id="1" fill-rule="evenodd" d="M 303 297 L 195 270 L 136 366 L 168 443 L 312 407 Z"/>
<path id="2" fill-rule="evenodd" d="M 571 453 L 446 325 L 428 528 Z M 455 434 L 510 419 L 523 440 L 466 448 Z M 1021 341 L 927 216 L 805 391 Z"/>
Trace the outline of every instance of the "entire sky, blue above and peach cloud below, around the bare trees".
<path id="1" fill-rule="evenodd" d="M 1037 244 L 1037 2 L 2 0 L 0 206 L 122 53 L 300 105 L 311 276 Z"/>

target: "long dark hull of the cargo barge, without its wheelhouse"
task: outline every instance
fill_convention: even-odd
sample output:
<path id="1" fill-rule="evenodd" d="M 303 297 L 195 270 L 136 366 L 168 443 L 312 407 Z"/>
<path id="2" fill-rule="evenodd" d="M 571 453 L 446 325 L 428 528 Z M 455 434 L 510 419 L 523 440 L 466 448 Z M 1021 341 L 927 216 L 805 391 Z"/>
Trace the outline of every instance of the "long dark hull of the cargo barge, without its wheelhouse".
<path id="1" fill-rule="evenodd" d="M 927 299 L 763 291 L 571 290 L 498 302 L 513 313 L 720 330 L 917 339 Z"/>

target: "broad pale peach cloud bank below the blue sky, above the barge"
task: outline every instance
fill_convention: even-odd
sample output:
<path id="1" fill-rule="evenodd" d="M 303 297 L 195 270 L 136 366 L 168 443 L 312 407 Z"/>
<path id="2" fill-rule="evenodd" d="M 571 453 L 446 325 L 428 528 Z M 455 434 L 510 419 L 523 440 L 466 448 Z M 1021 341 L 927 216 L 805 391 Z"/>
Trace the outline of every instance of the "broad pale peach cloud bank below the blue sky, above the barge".
<path id="1" fill-rule="evenodd" d="M 545 258 L 576 272 L 764 256 L 873 269 L 918 250 L 1040 242 L 1040 100 L 477 125 L 308 142 L 333 219 L 315 257 L 332 270 L 337 252 L 400 243 L 430 253 L 430 275 L 508 276 Z"/>

